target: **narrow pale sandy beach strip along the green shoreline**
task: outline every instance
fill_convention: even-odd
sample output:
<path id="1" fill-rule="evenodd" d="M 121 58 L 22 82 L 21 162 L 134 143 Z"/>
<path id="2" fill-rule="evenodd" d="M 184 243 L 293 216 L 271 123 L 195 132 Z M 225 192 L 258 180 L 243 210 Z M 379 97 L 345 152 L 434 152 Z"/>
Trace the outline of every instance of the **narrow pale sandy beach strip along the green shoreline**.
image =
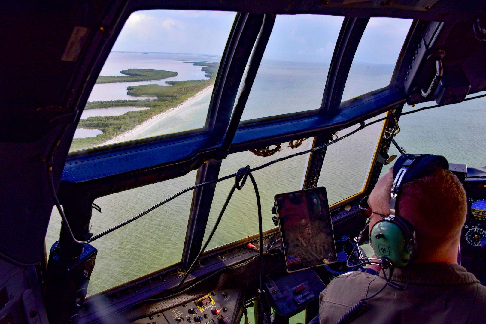
<path id="1" fill-rule="evenodd" d="M 160 113 L 151 119 L 145 120 L 143 123 L 140 125 L 136 126 L 134 129 L 129 130 L 119 136 L 113 137 L 112 139 L 102 143 L 101 145 L 106 145 L 106 144 L 113 144 L 113 143 L 118 143 L 118 142 L 124 142 L 127 140 L 131 139 L 137 139 L 139 138 L 139 134 L 141 134 L 143 131 L 145 131 L 147 128 L 152 126 L 155 122 L 159 121 L 160 119 L 166 118 L 167 116 L 174 115 L 177 111 L 182 110 L 189 105 L 191 105 L 194 102 L 197 102 L 201 100 L 205 95 L 207 95 L 209 92 L 212 92 L 213 90 L 213 85 L 208 86 L 206 89 L 196 93 L 194 96 L 192 96 L 189 99 L 186 99 L 185 101 L 179 103 L 177 106 L 172 107 L 171 109 L 164 111 L 163 113 Z"/>

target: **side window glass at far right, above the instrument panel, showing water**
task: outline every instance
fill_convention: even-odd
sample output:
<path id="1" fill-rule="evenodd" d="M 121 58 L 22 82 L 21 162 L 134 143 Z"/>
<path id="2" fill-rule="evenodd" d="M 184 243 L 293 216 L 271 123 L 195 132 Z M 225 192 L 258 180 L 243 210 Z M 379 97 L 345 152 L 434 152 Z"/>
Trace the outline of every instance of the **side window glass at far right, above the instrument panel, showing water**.
<path id="1" fill-rule="evenodd" d="M 401 116 L 395 140 L 407 153 L 443 155 L 450 163 L 468 167 L 486 166 L 486 138 L 479 131 L 486 122 L 485 104 L 486 98 L 479 98 Z M 435 102 L 405 105 L 403 112 L 433 105 Z M 393 144 L 389 153 L 400 155 Z M 385 166 L 382 174 L 392 166 Z"/>

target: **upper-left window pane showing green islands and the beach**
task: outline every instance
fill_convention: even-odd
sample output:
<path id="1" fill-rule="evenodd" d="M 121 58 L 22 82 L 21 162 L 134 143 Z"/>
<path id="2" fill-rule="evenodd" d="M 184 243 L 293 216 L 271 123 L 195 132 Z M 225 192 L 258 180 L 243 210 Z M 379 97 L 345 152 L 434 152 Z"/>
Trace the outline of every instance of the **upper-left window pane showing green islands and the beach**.
<path id="1" fill-rule="evenodd" d="M 71 151 L 204 127 L 235 13 L 130 15 L 91 91 Z"/>

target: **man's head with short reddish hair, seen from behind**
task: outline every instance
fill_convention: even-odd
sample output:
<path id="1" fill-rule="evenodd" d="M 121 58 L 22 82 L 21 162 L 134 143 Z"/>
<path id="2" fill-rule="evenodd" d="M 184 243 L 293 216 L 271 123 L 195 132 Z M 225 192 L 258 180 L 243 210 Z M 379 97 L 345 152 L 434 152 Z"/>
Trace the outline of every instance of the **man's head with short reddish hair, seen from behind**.
<path id="1" fill-rule="evenodd" d="M 371 192 L 368 203 L 374 212 L 389 214 L 393 180 L 390 169 Z M 396 213 L 415 229 L 419 246 L 416 263 L 456 262 L 467 201 L 464 188 L 451 171 L 436 167 L 430 174 L 404 184 Z M 370 228 L 381 219 L 372 214 Z"/>

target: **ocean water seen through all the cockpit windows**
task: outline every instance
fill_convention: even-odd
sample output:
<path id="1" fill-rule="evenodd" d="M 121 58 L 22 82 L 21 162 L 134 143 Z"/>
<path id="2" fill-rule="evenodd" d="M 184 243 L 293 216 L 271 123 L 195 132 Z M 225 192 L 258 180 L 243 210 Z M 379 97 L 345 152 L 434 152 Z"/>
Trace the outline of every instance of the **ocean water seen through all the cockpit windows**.
<path id="1" fill-rule="evenodd" d="M 115 74 L 117 71 L 125 68 L 161 68 L 175 70 L 179 72 L 177 77 L 182 78 L 184 74 L 177 67 L 184 67 L 187 68 L 188 73 L 185 80 L 198 78 L 198 75 L 200 79 L 204 77 L 200 67 L 182 63 L 189 60 L 196 61 L 195 55 L 190 55 L 191 59 L 184 55 L 173 57 L 164 55 L 112 53 L 102 74 L 117 75 Z M 197 60 L 201 61 L 217 60 L 198 57 Z M 166 66 L 158 61 L 168 62 L 168 64 Z M 261 67 L 243 119 L 319 107 L 329 63 L 267 61 L 262 62 Z M 199 69 L 199 72 L 192 71 L 191 68 Z M 393 66 L 366 63 L 353 65 L 343 98 L 352 98 L 387 85 L 392 72 Z M 103 97 L 103 90 L 100 90 L 101 85 L 95 85 L 93 93 L 98 91 L 96 96 L 99 96 L 96 100 L 123 99 L 116 97 L 115 93 L 125 91 L 124 95 L 126 95 L 126 90 L 123 89 L 126 89 L 129 84 L 110 85 L 113 89 L 116 88 L 116 91 L 106 92 L 105 97 Z M 187 108 L 160 119 L 140 136 L 154 136 L 202 127 L 209 100 L 210 94 L 193 102 Z M 435 102 L 416 107 L 406 106 L 405 110 L 433 104 Z M 466 163 L 468 166 L 476 167 L 486 165 L 486 142 L 483 132 L 486 124 L 486 116 L 483 113 L 485 105 L 486 99 L 483 98 L 403 116 L 399 120 L 401 131 L 395 139 L 409 153 L 441 154 L 453 163 Z M 362 188 L 381 125 L 376 123 L 364 128 L 328 148 L 319 186 L 326 186 L 331 203 L 338 202 Z M 338 136 L 347 134 L 355 127 L 340 131 Z M 305 140 L 296 149 L 288 147 L 288 143 L 282 143 L 281 151 L 270 157 L 259 157 L 250 152 L 231 154 L 222 162 L 220 176 L 234 173 L 246 165 L 255 167 L 287 154 L 306 150 L 311 144 L 312 138 Z M 397 152 L 392 147 L 390 153 Z M 274 227 L 270 213 L 274 195 L 301 188 L 306 159 L 307 155 L 301 155 L 255 172 L 261 196 L 264 230 Z M 385 167 L 384 170 L 386 169 Z M 91 231 L 97 234 L 133 217 L 174 193 L 192 186 L 195 177 L 196 171 L 191 171 L 176 179 L 98 198 L 95 203 L 102 208 L 102 213 L 93 211 Z M 206 236 L 220 212 L 231 185 L 232 180 L 226 180 L 216 187 Z M 184 246 L 191 199 L 192 193 L 185 193 L 136 222 L 93 242 L 92 245 L 98 249 L 98 256 L 89 282 L 88 295 L 179 262 Z M 48 249 L 58 239 L 59 229 L 60 216 L 54 208 L 46 237 Z M 247 184 L 245 188 L 237 190 L 233 195 L 208 248 L 221 246 L 257 232 L 255 194 L 252 186 Z"/>

